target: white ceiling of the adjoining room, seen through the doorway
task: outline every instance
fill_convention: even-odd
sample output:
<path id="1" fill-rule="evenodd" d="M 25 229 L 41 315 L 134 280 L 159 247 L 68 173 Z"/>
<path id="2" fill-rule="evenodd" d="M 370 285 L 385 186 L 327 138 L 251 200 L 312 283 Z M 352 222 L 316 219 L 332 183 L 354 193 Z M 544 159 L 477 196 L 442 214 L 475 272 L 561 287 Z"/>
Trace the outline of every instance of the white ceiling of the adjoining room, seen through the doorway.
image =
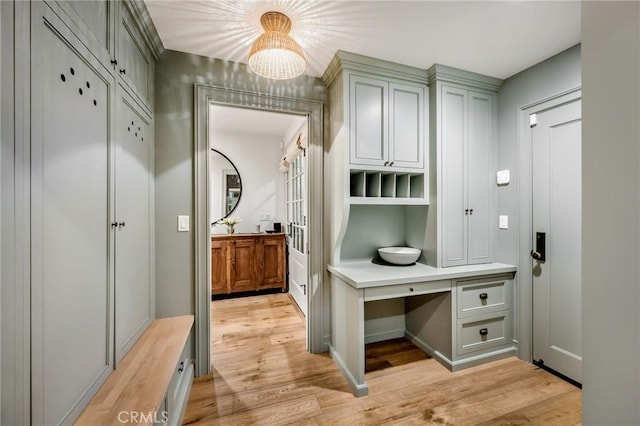
<path id="1" fill-rule="evenodd" d="M 261 111 L 250 108 L 211 105 L 212 134 L 216 132 L 284 138 L 293 127 L 300 127 L 305 116 L 282 112 Z"/>

